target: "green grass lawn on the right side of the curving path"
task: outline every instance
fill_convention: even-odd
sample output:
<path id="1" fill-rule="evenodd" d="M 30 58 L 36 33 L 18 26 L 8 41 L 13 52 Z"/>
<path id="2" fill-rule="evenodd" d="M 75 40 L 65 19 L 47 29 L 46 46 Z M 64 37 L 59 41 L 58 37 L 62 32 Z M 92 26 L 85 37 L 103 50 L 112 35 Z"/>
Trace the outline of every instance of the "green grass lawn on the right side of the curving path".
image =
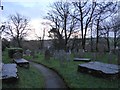
<path id="1" fill-rule="evenodd" d="M 91 56 L 88 53 L 85 57 Z M 106 56 L 101 57 L 100 60 L 102 60 L 102 62 L 107 63 L 106 58 L 107 54 Z M 114 59 L 115 58 L 116 57 L 114 56 Z M 58 71 L 70 88 L 118 88 L 118 85 L 120 83 L 120 79 L 107 80 L 103 78 L 94 77 L 89 74 L 77 72 L 78 64 L 83 62 L 74 62 L 73 56 L 71 57 L 70 62 L 64 62 L 63 64 L 59 62 L 59 60 L 54 60 L 53 58 L 51 58 L 49 61 L 44 60 L 43 54 L 38 54 L 37 58 L 35 58 L 33 61 L 42 63 Z M 113 63 L 116 63 L 116 61 L 114 61 Z"/>

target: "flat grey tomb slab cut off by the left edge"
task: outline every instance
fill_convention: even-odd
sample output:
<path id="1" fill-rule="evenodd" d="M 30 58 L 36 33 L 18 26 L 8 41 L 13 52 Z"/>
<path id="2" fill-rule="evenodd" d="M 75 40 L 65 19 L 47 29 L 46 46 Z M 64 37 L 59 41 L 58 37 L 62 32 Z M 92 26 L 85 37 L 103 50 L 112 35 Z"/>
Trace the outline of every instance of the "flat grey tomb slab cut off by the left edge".
<path id="1" fill-rule="evenodd" d="M 0 79 L 2 80 L 18 79 L 17 65 L 16 64 L 4 64 L 2 66 L 2 71 L 0 75 L 1 75 Z"/>

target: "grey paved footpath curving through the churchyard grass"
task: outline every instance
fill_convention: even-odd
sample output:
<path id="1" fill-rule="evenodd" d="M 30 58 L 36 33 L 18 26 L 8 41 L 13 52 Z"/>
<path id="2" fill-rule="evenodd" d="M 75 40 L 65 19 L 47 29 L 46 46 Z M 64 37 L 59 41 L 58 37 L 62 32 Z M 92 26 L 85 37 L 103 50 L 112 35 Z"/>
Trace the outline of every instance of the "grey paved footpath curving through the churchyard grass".
<path id="1" fill-rule="evenodd" d="M 44 76 L 45 88 L 66 88 L 64 81 L 60 76 L 53 70 L 34 62 L 30 62 L 34 67 L 36 67 Z"/>

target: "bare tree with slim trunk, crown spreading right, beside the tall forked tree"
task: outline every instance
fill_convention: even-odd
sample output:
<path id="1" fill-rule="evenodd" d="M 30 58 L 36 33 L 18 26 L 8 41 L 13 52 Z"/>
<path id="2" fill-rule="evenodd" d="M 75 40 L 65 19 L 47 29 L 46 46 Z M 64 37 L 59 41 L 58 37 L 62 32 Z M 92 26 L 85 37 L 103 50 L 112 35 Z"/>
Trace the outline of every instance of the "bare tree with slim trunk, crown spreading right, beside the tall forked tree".
<path id="1" fill-rule="evenodd" d="M 101 36 L 101 30 L 106 29 L 106 28 L 103 28 L 101 24 L 105 22 L 105 20 L 112 17 L 115 13 L 116 13 L 116 3 L 113 3 L 113 2 L 97 3 L 96 10 L 95 10 L 96 51 L 99 51 L 98 44 L 99 44 L 99 37 Z"/>

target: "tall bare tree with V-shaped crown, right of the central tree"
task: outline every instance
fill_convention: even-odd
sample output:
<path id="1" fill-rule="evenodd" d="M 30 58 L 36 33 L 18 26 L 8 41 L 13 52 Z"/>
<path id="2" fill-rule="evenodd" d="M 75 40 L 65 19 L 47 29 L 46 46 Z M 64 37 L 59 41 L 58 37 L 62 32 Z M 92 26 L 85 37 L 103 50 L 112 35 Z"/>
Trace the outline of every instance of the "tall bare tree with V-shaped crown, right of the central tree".
<path id="1" fill-rule="evenodd" d="M 85 50 L 86 35 L 89 24 L 94 15 L 96 2 L 92 1 L 91 4 L 88 0 L 85 0 L 84 2 L 79 0 L 78 2 L 74 2 L 73 5 L 75 7 L 76 15 L 72 16 L 80 21 L 80 30 L 82 34 L 82 48 Z"/>

